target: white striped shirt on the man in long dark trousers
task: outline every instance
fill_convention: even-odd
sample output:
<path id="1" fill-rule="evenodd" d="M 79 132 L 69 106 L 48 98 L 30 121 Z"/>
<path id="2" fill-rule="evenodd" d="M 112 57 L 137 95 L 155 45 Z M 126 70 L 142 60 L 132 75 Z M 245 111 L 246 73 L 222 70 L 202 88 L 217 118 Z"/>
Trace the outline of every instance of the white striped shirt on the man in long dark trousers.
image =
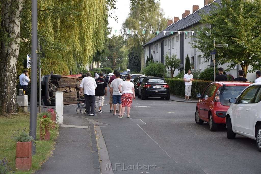
<path id="1" fill-rule="evenodd" d="M 83 88 L 84 94 L 95 95 L 95 88 L 97 85 L 95 79 L 89 76 L 82 79 L 79 87 Z"/>

